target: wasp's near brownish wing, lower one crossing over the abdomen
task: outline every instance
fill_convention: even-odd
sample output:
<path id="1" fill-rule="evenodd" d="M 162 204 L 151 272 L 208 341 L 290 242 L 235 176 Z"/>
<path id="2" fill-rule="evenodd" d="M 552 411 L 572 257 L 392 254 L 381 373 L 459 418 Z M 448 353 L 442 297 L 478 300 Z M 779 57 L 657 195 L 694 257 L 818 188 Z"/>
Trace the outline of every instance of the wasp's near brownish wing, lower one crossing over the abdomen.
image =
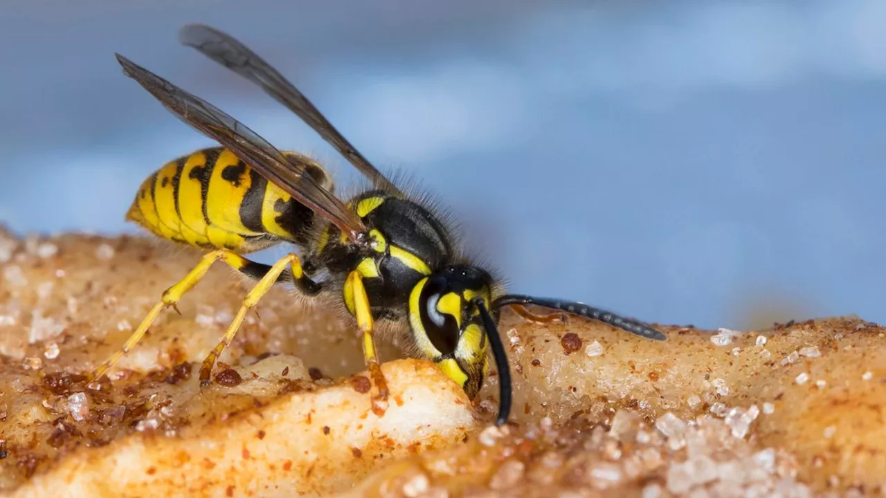
<path id="1" fill-rule="evenodd" d="M 160 104 L 182 121 L 234 152 L 268 181 L 334 223 L 355 242 L 363 239 L 366 227 L 332 192 L 305 173 L 306 166 L 285 156 L 264 138 L 205 100 L 167 82 L 128 58 L 117 54 L 123 72 L 152 93 Z"/>

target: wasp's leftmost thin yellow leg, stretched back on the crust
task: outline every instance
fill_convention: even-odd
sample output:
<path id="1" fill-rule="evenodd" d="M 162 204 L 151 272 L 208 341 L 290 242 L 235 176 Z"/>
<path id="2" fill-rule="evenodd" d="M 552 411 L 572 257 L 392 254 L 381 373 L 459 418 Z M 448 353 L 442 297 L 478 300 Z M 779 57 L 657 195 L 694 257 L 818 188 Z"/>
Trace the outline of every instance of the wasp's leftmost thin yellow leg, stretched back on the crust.
<path id="1" fill-rule="evenodd" d="M 113 366 L 120 361 L 120 358 L 122 358 L 124 354 L 127 354 L 130 349 L 135 347 L 136 343 L 144 337 L 144 332 L 148 331 L 148 328 L 151 327 L 151 324 L 157 319 L 157 316 L 163 311 L 163 308 L 170 306 L 175 307 L 175 303 L 182 299 L 185 292 L 190 291 L 190 289 L 206 275 L 206 271 L 209 267 L 213 266 L 213 263 L 219 260 L 224 261 L 229 267 L 237 270 L 244 268 L 249 263 L 249 260 L 245 259 L 243 256 L 240 256 L 237 253 L 232 253 L 227 249 L 220 249 L 206 254 L 206 256 L 198 262 L 197 266 L 191 269 L 190 272 L 188 272 L 188 275 L 180 280 L 178 284 L 169 287 L 166 292 L 163 292 L 163 297 L 160 302 L 151 308 L 151 311 L 144 317 L 144 320 L 138 325 L 136 331 L 126 339 L 123 348 L 112 354 L 110 358 L 99 365 L 90 377 L 97 380 L 103 377 L 108 370 L 111 370 Z"/>

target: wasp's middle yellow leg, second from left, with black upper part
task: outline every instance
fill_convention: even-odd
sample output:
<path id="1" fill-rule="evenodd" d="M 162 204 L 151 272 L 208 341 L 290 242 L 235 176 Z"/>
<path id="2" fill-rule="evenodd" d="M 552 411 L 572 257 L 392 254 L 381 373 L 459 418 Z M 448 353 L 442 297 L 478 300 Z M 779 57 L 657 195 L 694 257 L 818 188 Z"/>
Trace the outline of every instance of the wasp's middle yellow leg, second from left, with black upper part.
<path id="1" fill-rule="evenodd" d="M 259 263 L 253 263 L 258 265 Z M 261 265 L 265 266 L 265 265 Z M 240 306 L 240 310 L 237 311 L 237 316 L 234 317 L 234 321 L 230 323 L 228 326 L 228 331 L 225 332 L 224 337 L 221 338 L 218 345 L 215 346 L 213 351 L 206 355 L 206 359 L 203 361 L 203 365 L 200 367 L 200 385 L 206 386 L 210 383 L 209 377 L 212 374 L 213 367 L 215 365 L 215 360 L 221 356 L 221 353 L 224 351 L 225 347 L 228 347 L 230 341 L 234 340 L 234 336 L 237 335 L 237 330 L 240 329 L 240 325 L 243 323 L 243 319 L 246 316 L 246 313 L 249 312 L 258 302 L 268 293 L 271 287 L 277 283 L 277 281 L 284 275 L 284 271 L 286 271 L 287 267 L 291 268 L 292 277 L 295 280 L 295 284 L 299 287 L 302 292 L 305 292 L 310 295 L 314 295 L 317 292 L 320 292 L 320 284 L 316 284 L 311 279 L 305 276 L 304 271 L 301 268 L 301 261 L 299 261 L 299 256 L 295 254 L 287 254 L 279 261 L 274 263 L 274 266 L 269 267 L 267 270 L 264 270 L 264 275 L 261 276 L 259 283 L 255 284 L 253 290 L 246 294 L 245 300 L 243 300 L 243 305 Z M 254 269 L 258 269 L 258 266 L 253 267 Z M 253 276 L 253 274 L 244 272 L 247 275 Z M 258 275 L 258 271 L 253 272 L 255 276 Z"/>

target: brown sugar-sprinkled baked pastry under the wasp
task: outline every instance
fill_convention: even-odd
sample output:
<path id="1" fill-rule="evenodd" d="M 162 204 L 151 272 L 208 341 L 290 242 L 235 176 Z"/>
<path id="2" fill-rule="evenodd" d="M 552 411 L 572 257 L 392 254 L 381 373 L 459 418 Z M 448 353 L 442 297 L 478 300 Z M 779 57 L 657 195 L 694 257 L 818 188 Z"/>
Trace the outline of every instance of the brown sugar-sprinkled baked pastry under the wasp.
<path id="1" fill-rule="evenodd" d="M 812 496 L 886 486 L 886 338 L 859 318 L 633 338 L 502 316 L 512 424 L 490 427 L 430 362 L 382 349 L 375 416 L 360 345 L 323 306 L 269 292 L 198 363 L 251 283 L 213 268 L 86 384 L 199 253 L 141 237 L 0 231 L 0 493 L 12 496 Z M 538 311 L 538 310 L 536 310 Z"/>

